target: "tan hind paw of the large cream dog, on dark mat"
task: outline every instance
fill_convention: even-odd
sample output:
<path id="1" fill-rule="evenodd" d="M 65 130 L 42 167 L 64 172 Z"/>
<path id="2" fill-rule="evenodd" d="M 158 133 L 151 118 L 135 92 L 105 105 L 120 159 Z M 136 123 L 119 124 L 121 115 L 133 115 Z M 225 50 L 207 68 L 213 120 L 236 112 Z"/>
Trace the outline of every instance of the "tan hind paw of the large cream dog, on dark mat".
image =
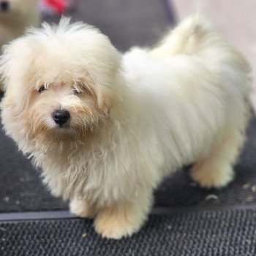
<path id="1" fill-rule="evenodd" d="M 233 180 L 234 171 L 229 164 L 221 166 L 195 165 L 190 175 L 194 181 L 200 184 L 200 187 L 220 189 Z"/>

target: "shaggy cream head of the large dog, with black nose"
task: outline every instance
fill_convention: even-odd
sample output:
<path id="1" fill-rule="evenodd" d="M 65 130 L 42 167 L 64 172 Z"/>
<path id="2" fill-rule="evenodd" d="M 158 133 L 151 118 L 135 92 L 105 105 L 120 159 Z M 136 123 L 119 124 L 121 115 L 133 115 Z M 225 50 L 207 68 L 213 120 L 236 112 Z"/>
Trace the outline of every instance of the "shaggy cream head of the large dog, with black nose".
<path id="1" fill-rule="evenodd" d="M 63 18 L 30 29 L 1 56 L 7 132 L 16 140 L 19 132 L 33 140 L 94 132 L 110 115 L 119 66 L 116 48 L 92 26 Z"/>

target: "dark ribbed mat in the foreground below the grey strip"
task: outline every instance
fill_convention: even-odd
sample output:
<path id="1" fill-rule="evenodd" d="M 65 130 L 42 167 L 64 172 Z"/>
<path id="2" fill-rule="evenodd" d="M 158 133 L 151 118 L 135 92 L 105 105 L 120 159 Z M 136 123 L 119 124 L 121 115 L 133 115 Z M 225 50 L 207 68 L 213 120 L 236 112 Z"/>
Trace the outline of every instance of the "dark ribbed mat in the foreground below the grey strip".
<path id="1" fill-rule="evenodd" d="M 2 256 L 255 256 L 256 211 L 151 216 L 132 238 L 100 238 L 84 219 L 0 222 Z"/>

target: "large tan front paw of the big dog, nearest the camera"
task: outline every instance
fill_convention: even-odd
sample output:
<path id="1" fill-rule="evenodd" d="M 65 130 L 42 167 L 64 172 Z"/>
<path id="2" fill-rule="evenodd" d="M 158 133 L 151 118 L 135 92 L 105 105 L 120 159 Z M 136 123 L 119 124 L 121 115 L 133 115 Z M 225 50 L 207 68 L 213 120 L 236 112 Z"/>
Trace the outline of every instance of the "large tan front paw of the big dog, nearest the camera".
<path id="1" fill-rule="evenodd" d="M 140 217 L 136 219 L 126 209 L 108 208 L 99 212 L 94 221 L 94 227 L 97 233 L 103 238 L 120 239 L 132 236 L 138 231 L 141 225 Z"/>

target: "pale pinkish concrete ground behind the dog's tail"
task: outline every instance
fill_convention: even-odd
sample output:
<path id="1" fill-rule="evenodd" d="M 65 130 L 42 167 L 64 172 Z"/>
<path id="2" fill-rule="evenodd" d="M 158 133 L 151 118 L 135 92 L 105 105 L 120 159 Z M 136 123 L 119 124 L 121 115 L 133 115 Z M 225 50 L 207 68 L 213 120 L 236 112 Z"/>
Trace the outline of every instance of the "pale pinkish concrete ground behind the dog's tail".
<path id="1" fill-rule="evenodd" d="M 256 110 L 256 1 L 255 0 L 168 0 L 178 20 L 202 10 L 252 64 L 252 103 Z"/>

